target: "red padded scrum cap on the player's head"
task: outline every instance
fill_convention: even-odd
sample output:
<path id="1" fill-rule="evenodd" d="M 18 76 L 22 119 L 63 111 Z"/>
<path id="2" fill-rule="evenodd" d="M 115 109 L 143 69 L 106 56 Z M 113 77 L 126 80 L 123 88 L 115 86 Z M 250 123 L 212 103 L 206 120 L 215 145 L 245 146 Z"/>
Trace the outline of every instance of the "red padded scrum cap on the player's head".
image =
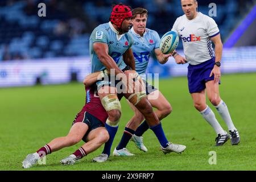
<path id="1" fill-rule="evenodd" d="M 126 18 L 131 18 L 132 15 L 133 14 L 131 14 L 130 7 L 119 3 L 119 5 L 115 5 L 113 7 L 112 13 L 110 15 L 110 22 L 112 22 L 121 29 L 123 20 Z"/>

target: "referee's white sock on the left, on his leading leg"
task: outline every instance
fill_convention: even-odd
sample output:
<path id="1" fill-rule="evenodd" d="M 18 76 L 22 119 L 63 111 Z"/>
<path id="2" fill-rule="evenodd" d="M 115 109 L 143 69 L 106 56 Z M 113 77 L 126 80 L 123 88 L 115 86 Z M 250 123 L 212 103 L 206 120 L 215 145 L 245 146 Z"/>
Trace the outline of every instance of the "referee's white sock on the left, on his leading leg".
<path id="1" fill-rule="evenodd" d="M 210 126 L 213 127 L 213 129 L 217 134 L 221 134 L 221 135 L 226 134 L 226 132 L 220 126 L 220 123 L 218 123 L 212 109 L 210 109 L 209 106 L 207 106 L 207 108 L 201 111 L 200 113 L 203 115 L 204 119 L 210 124 Z"/>

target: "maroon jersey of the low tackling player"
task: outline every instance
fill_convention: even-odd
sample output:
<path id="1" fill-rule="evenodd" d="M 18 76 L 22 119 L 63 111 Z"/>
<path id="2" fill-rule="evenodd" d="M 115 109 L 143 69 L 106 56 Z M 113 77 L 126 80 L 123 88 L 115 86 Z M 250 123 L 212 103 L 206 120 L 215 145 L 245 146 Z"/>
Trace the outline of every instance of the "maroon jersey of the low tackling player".
<path id="1" fill-rule="evenodd" d="M 86 86 L 86 98 L 85 106 L 82 107 L 82 110 L 92 114 L 94 117 L 100 119 L 104 124 L 108 118 L 108 113 L 101 104 L 100 97 L 98 93 L 95 92 L 94 88 L 91 86 Z"/>

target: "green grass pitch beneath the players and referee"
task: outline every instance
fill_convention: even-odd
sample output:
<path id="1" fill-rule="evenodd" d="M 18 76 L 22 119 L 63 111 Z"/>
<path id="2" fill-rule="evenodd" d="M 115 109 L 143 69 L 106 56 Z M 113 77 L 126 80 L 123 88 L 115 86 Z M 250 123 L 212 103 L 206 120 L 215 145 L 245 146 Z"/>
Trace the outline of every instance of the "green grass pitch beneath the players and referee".
<path id="1" fill-rule="evenodd" d="M 22 169 L 27 154 L 35 152 L 50 140 L 68 133 L 75 115 L 84 105 L 82 84 L 33 86 L 0 89 L 0 170 L 256 170 L 256 73 L 222 75 L 220 93 L 228 105 L 233 122 L 240 131 L 241 143 L 214 146 L 216 134 L 193 107 L 185 77 L 160 80 L 160 91 L 174 111 L 162 121 L 167 138 L 184 144 L 183 154 L 164 155 L 151 130 L 144 134 L 148 152 L 139 151 L 134 143 L 127 146 L 135 156 L 113 157 L 108 162 L 91 163 L 102 148 L 73 166 L 59 161 L 72 154 L 82 142 L 53 152 L 46 165 Z M 227 127 L 212 108 L 221 126 Z M 123 129 L 133 112 L 122 100 L 122 118 L 112 152 L 121 139 Z M 210 151 L 216 151 L 217 164 L 208 163 Z"/>

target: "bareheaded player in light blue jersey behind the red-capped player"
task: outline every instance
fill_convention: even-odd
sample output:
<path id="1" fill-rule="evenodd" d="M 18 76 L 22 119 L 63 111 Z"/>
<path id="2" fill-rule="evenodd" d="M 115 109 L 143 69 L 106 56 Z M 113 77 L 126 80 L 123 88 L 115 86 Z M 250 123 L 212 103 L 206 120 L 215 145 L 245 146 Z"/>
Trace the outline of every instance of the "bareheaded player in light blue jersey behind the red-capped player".
<path id="1" fill-rule="evenodd" d="M 133 9 L 131 12 L 133 14 L 133 17 L 131 18 L 133 28 L 131 28 L 130 33 L 133 35 L 134 39 L 134 44 L 131 48 L 133 49 L 133 55 L 135 58 L 135 69 L 139 73 L 139 76 L 142 77 L 144 85 L 146 85 L 148 101 L 150 101 L 152 107 L 156 108 L 155 113 L 159 120 L 161 120 L 171 113 L 172 107 L 158 89 L 146 82 L 146 69 L 150 55 L 153 51 L 160 64 L 165 64 L 168 61 L 168 57 L 171 56 L 171 53 L 164 55 L 160 52 L 160 37 L 158 33 L 146 28 L 148 11 L 138 7 Z M 126 148 L 130 139 L 135 142 L 136 146 L 140 150 L 147 152 L 147 148 L 143 144 L 142 135 L 149 129 L 148 124 L 146 121 L 141 124 L 144 119 L 143 114 L 136 107 L 130 104 L 130 102 L 129 105 L 134 111 L 134 116 L 127 123 L 125 130 L 123 131 L 122 139 L 113 152 L 114 156 L 134 155 Z"/>

